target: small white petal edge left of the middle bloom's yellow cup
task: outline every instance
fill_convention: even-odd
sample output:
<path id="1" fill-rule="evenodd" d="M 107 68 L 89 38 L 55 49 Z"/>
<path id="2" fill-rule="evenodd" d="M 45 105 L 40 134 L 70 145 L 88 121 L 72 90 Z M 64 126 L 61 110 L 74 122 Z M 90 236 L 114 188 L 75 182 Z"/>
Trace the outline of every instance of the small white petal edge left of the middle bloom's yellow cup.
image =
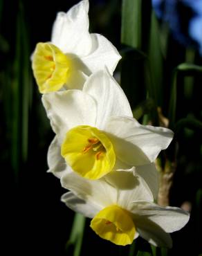
<path id="1" fill-rule="evenodd" d="M 67 172 L 66 162 L 60 152 L 61 147 L 59 146 L 57 136 L 55 136 L 48 147 L 48 172 L 52 172 L 59 179 L 64 172 Z"/>

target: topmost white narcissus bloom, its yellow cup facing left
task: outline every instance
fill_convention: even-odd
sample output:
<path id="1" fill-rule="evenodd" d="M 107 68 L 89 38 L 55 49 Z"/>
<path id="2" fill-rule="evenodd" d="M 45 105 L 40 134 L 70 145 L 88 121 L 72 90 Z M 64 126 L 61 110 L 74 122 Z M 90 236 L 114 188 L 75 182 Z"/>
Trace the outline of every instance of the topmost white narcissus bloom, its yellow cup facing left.
<path id="1" fill-rule="evenodd" d="M 105 37 L 89 33 L 89 1 L 59 12 L 51 42 L 39 43 L 33 54 L 33 72 L 41 93 L 82 89 L 86 76 L 104 66 L 112 74 L 120 55 Z"/>

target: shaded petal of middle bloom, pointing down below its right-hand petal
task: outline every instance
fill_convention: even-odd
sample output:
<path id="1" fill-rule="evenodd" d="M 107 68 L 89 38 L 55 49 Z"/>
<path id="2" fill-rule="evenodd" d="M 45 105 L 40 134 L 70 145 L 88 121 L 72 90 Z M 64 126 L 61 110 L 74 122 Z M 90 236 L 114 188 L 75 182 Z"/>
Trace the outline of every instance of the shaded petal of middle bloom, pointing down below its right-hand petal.
<path id="1" fill-rule="evenodd" d="M 154 196 L 154 200 L 157 199 L 158 196 L 158 188 L 159 188 L 159 174 L 156 170 L 154 163 L 149 165 L 140 165 L 136 167 L 136 174 L 143 177 L 146 181 L 149 189 L 152 191 Z"/>

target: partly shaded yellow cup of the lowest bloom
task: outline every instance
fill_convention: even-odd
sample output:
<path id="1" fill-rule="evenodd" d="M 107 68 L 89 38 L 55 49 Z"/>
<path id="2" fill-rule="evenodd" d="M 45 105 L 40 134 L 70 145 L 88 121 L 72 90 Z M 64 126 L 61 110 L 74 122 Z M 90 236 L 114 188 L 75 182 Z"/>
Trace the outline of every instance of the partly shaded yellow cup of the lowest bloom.
<path id="1" fill-rule="evenodd" d="M 91 221 L 91 228 L 103 239 L 120 246 L 131 244 L 136 233 L 130 213 L 118 205 L 110 205 L 98 212 Z"/>

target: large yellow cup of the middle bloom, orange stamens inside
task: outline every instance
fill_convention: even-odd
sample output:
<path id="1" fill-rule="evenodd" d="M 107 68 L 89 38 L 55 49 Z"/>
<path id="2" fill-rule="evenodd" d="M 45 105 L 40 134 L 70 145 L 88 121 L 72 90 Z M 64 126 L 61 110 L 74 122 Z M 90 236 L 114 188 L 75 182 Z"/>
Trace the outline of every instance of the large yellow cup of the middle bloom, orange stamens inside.
<path id="1" fill-rule="evenodd" d="M 66 133 L 61 154 L 73 171 L 87 179 L 100 179 L 116 161 L 111 141 L 103 131 L 80 125 Z"/>

